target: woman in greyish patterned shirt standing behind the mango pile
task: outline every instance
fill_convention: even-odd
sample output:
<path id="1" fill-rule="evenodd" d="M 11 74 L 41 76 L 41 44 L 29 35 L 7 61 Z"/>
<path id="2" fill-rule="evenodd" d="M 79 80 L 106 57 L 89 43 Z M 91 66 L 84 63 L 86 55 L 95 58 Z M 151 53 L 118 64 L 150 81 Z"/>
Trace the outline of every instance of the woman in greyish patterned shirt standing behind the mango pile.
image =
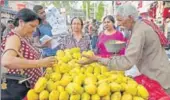
<path id="1" fill-rule="evenodd" d="M 79 47 L 81 51 L 90 49 L 90 37 L 82 32 L 83 21 L 81 18 L 75 17 L 71 20 L 71 33 L 62 39 L 60 48 Z"/>

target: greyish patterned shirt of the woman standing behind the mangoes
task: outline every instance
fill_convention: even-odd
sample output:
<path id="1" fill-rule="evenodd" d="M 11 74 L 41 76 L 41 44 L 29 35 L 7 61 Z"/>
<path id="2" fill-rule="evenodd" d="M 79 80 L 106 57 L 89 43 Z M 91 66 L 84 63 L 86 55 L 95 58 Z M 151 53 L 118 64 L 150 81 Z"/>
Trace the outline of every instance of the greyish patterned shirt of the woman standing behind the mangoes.
<path id="1" fill-rule="evenodd" d="M 86 51 L 90 49 L 90 37 L 88 35 L 83 35 L 80 41 L 77 41 L 73 35 L 67 35 L 61 40 L 61 49 L 69 49 L 79 47 L 81 51 Z"/>

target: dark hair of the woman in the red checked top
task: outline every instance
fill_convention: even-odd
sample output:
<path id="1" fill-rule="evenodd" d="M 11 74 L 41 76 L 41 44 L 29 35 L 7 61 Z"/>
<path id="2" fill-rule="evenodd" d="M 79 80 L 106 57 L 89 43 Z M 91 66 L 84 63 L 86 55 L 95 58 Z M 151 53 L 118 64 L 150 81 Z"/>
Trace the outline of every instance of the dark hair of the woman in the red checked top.
<path id="1" fill-rule="evenodd" d="M 14 19 L 14 26 L 19 25 L 20 19 L 23 20 L 24 22 L 30 22 L 38 19 L 39 23 L 41 23 L 41 19 L 38 17 L 38 15 L 28 8 L 23 8 L 16 14 Z"/>

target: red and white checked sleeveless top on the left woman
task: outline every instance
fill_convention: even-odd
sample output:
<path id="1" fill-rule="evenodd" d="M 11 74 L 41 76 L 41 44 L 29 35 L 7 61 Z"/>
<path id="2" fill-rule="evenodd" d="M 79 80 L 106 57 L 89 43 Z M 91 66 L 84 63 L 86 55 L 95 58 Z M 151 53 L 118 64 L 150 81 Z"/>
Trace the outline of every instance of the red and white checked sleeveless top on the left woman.
<path id="1" fill-rule="evenodd" d="M 15 35 L 15 33 L 10 32 L 6 37 L 3 38 L 2 43 L 1 43 L 1 51 L 3 51 L 5 48 L 6 39 L 12 35 Z M 34 47 L 32 47 L 25 38 L 20 37 L 20 39 L 21 39 L 21 48 L 19 52 L 23 54 L 23 57 L 29 60 L 39 59 L 40 53 Z M 38 80 L 38 78 L 42 76 L 42 70 L 40 68 L 28 68 L 28 69 L 23 69 L 23 71 L 24 71 L 24 75 L 26 75 L 27 77 L 32 76 L 32 78 L 29 80 L 31 87 L 33 87 L 36 81 Z M 8 73 L 21 74 L 21 70 L 20 69 L 8 69 Z"/>

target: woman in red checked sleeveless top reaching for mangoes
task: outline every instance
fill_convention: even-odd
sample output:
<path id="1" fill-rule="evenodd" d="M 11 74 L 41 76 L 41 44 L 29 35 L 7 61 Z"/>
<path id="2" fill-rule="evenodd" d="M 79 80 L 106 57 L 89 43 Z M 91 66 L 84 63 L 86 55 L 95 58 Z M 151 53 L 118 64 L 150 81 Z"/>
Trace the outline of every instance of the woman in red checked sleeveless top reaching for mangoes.
<path id="1" fill-rule="evenodd" d="M 32 10 L 27 8 L 20 10 L 15 17 L 15 29 L 9 32 L 1 43 L 1 51 L 3 52 L 2 65 L 8 69 L 10 74 L 30 77 L 28 81 L 31 88 L 38 78 L 42 76 L 41 67 L 50 67 L 55 61 L 54 57 L 40 59 L 40 53 L 30 44 L 29 38 L 40 24 L 40 21 Z M 7 80 L 7 88 L 15 87 L 11 81 Z M 25 84 L 20 85 L 24 86 Z M 16 90 L 7 90 L 1 91 L 2 100 L 22 99 L 28 91 L 15 93 Z"/>

